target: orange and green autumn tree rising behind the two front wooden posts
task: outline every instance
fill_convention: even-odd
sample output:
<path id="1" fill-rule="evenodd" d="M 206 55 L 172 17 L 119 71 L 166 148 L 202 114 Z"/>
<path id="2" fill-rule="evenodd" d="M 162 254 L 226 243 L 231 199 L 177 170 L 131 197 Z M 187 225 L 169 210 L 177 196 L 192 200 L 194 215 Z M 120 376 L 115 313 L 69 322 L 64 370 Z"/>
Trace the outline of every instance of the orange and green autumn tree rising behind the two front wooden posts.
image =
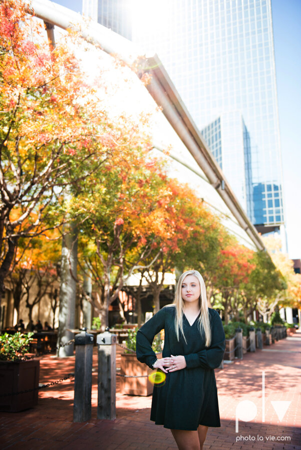
<path id="1" fill-rule="evenodd" d="M 157 201 L 166 193 L 165 175 L 160 162 L 148 156 L 147 136 L 133 133 L 126 145 L 118 142 L 124 145 L 122 161 L 104 163 L 97 183 L 88 181 L 85 195 L 74 200 L 82 223 L 79 264 L 93 279 L 90 301 L 102 323 L 108 323 L 109 305 L 135 268 L 146 268 L 159 256 L 155 240 L 164 231 Z"/>

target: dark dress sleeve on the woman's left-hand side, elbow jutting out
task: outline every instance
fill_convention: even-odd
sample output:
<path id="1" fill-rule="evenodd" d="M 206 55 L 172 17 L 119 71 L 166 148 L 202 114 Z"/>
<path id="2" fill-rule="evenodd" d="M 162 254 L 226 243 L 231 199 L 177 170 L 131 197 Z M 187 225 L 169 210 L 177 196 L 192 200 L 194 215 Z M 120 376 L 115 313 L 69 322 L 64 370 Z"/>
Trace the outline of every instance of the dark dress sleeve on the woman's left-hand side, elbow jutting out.
<path id="1" fill-rule="evenodd" d="M 136 337 L 136 355 L 140 362 L 145 362 L 149 367 L 157 359 L 156 353 L 152 349 L 152 343 L 155 335 L 164 328 L 165 308 L 160 309 L 137 331 Z"/>

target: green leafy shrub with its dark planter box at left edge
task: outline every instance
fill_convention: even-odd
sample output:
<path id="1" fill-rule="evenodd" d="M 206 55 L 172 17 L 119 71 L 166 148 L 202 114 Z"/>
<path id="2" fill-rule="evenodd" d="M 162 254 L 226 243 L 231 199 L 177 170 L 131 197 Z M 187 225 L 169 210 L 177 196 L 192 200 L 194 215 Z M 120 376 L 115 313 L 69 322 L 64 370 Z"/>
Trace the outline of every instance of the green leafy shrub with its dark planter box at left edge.
<path id="1" fill-rule="evenodd" d="M 23 411 L 38 403 L 40 361 L 24 358 L 29 350 L 33 334 L 32 332 L 28 334 L 16 332 L 0 335 L 1 411 Z M 10 395 L 30 389 L 34 390 Z"/>

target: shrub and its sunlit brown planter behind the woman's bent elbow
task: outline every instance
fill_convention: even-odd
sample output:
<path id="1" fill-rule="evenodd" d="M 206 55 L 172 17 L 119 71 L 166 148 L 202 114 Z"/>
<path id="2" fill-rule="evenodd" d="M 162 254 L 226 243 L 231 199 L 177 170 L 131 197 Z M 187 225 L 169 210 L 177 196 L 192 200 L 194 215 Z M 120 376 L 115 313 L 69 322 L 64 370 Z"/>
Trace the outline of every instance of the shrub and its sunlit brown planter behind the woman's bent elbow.
<path id="1" fill-rule="evenodd" d="M 121 393 L 128 395 L 150 395 L 153 391 L 153 384 L 148 379 L 148 374 L 151 369 L 143 362 L 138 361 L 136 357 L 136 335 L 138 327 L 131 330 L 129 329 L 129 335 L 127 339 L 127 348 L 124 353 L 121 354 L 120 361 L 120 373 L 122 375 L 143 375 L 140 378 L 126 378 L 121 376 Z M 157 354 L 158 358 L 162 357 L 162 339 L 160 333 L 158 333 L 152 345 L 153 350 Z M 132 351 L 130 351 L 132 350 Z M 134 353 L 135 351 L 135 353 Z"/>

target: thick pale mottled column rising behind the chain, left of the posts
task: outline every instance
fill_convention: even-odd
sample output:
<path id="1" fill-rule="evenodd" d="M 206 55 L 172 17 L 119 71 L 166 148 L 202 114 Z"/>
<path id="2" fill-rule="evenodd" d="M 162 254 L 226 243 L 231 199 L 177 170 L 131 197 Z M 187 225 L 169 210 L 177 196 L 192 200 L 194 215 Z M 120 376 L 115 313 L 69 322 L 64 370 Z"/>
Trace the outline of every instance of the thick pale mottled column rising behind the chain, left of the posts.
<path id="1" fill-rule="evenodd" d="M 67 231 L 64 226 L 64 231 Z M 69 232 L 63 237 L 62 265 L 61 265 L 61 289 L 60 289 L 60 313 L 58 344 L 64 344 L 74 338 L 74 333 L 69 329 L 75 326 L 76 304 L 76 273 L 77 273 L 77 228 L 72 222 L 69 224 Z M 73 355 L 74 344 L 67 345 L 57 351 L 60 357 Z"/>

